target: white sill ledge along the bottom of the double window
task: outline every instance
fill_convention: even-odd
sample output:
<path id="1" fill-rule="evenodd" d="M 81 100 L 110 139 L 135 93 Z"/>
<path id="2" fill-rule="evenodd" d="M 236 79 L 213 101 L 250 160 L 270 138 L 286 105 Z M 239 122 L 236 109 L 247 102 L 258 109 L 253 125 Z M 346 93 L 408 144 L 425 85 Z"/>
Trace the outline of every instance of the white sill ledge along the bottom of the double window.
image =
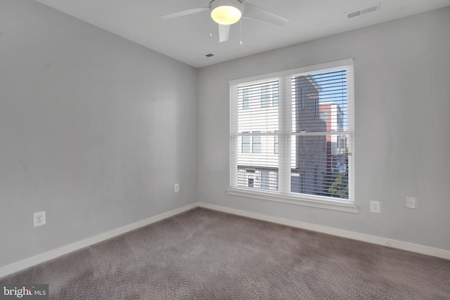
<path id="1" fill-rule="evenodd" d="M 260 200 L 268 200 L 274 202 L 302 205 L 305 207 L 317 207 L 321 209 L 331 209 L 335 211 L 345 211 L 353 214 L 359 213 L 359 207 L 354 204 L 347 204 L 342 202 L 329 202 L 324 200 L 316 200 L 311 197 L 311 199 L 305 197 L 292 197 L 288 195 L 280 195 L 270 192 L 256 192 L 254 190 L 248 190 L 245 188 L 228 188 L 226 189 L 228 195 L 240 196 L 240 197 L 250 197 Z"/>

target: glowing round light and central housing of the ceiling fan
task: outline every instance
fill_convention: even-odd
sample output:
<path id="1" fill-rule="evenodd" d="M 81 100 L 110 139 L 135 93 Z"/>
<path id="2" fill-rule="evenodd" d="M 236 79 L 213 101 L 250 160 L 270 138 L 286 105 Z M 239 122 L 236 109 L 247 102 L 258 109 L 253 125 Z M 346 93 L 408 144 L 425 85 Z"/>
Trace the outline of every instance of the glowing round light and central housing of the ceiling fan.
<path id="1" fill-rule="evenodd" d="M 239 0 L 212 0 L 211 18 L 221 25 L 231 25 L 242 16 L 243 4 Z"/>

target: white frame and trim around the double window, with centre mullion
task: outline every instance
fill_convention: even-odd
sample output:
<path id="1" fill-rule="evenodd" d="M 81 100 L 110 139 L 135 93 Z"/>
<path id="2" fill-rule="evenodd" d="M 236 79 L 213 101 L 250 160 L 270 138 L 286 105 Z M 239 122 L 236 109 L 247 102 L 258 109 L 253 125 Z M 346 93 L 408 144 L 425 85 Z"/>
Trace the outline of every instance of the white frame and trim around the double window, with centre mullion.
<path id="1" fill-rule="evenodd" d="M 302 74 L 302 73 L 312 73 L 312 72 L 326 72 L 327 70 L 333 70 L 338 68 L 347 69 L 347 131 L 345 135 L 348 136 L 348 171 L 349 171 L 349 199 L 330 200 L 329 197 L 321 197 L 318 195 L 306 195 L 306 194 L 293 194 L 283 190 L 278 190 L 276 192 L 272 190 L 259 190 L 250 189 L 244 187 L 238 187 L 237 185 L 237 174 L 235 168 L 237 166 L 237 141 L 238 141 L 238 101 L 235 99 L 234 95 L 237 95 L 237 86 L 239 84 L 255 84 L 258 82 L 264 83 L 270 81 L 271 79 L 278 79 L 281 77 L 291 76 L 292 74 Z M 280 80 L 281 82 L 287 82 Z M 278 105 L 281 107 L 280 111 L 283 111 L 283 105 L 291 105 L 291 103 L 286 103 L 288 101 L 283 101 L 283 99 L 289 99 L 289 97 L 283 97 L 283 93 L 291 93 L 290 86 L 279 86 L 280 96 L 278 97 Z M 288 110 L 284 110 L 288 111 Z M 283 182 L 290 182 L 290 168 L 282 166 L 288 162 L 288 157 L 290 155 L 290 150 L 288 150 L 283 145 L 288 145 L 287 138 L 291 134 L 292 126 L 288 121 L 288 117 L 284 118 L 284 124 L 279 124 L 279 170 L 278 178 Z M 284 172 L 282 170 L 285 170 Z M 289 170 L 289 172 L 288 172 Z M 270 74 L 262 74 L 256 77 L 248 77 L 243 79 L 236 79 L 230 81 L 230 187 L 226 190 L 228 195 L 240 196 L 240 197 L 251 197 L 260 200 L 269 200 L 275 202 L 283 202 L 290 204 L 299 204 L 307 207 L 319 207 L 323 209 L 333 209 L 336 211 L 345 211 L 351 213 L 358 213 L 359 208 L 356 206 L 354 201 L 354 70 L 353 70 L 353 60 L 339 60 L 333 63 L 324 63 L 320 65 L 311 65 L 308 67 L 300 67 L 293 70 L 285 70 L 281 72 L 275 72 Z"/>

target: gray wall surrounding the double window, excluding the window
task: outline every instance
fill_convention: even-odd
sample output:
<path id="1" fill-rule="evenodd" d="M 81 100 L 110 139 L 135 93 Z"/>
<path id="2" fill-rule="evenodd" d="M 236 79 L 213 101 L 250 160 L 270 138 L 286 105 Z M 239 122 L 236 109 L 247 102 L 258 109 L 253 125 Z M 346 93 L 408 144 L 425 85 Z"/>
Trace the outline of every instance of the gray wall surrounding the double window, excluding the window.
<path id="1" fill-rule="evenodd" d="M 200 69 L 202 202 L 450 250 L 450 7 Z M 226 195 L 229 81 L 354 58 L 359 214 Z M 406 209 L 405 196 L 418 197 Z M 379 200 L 382 213 L 369 212 Z"/>

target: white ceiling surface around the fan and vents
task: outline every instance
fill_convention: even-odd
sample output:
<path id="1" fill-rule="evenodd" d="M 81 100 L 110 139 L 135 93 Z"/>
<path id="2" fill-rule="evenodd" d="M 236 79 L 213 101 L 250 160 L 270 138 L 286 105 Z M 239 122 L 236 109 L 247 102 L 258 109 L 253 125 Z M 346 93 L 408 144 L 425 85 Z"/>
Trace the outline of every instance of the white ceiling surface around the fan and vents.
<path id="1" fill-rule="evenodd" d="M 229 41 L 219 43 L 209 11 L 181 18 L 162 15 L 207 7 L 210 0 L 37 0 L 193 67 L 280 48 L 450 5 L 450 0 L 249 0 L 288 18 L 285 27 L 255 20 L 231 25 Z M 344 14 L 380 3 L 380 11 L 346 20 Z M 206 58 L 205 54 L 214 56 Z"/>

